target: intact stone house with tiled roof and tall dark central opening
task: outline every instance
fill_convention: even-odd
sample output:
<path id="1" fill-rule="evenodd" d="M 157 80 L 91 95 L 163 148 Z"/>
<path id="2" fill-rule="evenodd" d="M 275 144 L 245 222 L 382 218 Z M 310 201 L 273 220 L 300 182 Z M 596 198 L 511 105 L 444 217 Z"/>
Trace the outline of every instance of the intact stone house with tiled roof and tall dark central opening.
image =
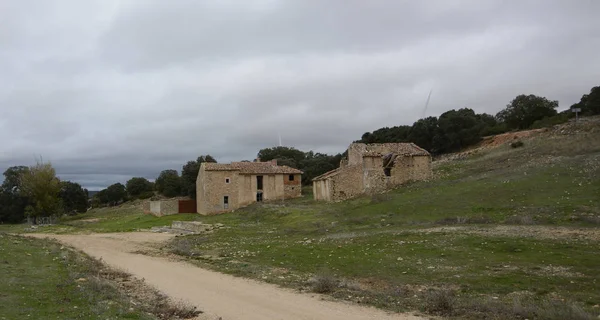
<path id="1" fill-rule="evenodd" d="M 235 210 L 254 202 L 302 195 L 302 171 L 268 162 L 202 163 L 196 179 L 200 214 Z"/>

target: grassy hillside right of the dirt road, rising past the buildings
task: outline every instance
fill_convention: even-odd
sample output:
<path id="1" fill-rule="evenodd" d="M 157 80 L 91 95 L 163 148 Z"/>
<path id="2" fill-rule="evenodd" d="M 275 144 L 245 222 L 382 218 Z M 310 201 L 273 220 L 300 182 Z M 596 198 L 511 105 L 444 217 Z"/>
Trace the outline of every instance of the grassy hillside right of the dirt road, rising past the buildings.
<path id="1" fill-rule="evenodd" d="M 45 231 L 223 223 L 229 228 L 178 237 L 166 249 L 207 268 L 389 310 L 595 319 L 600 132 L 561 130 L 521 148 L 439 161 L 432 181 L 341 203 L 306 195 L 211 217 L 101 209 Z"/>

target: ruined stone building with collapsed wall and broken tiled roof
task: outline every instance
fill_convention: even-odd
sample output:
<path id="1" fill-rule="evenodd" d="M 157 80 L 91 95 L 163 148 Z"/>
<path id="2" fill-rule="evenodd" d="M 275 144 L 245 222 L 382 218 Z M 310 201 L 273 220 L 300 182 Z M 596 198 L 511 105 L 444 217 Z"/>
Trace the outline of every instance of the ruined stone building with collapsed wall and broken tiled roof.
<path id="1" fill-rule="evenodd" d="M 339 168 L 313 179 L 313 196 L 345 200 L 431 176 L 431 155 L 414 143 L 353 143 Z"/>

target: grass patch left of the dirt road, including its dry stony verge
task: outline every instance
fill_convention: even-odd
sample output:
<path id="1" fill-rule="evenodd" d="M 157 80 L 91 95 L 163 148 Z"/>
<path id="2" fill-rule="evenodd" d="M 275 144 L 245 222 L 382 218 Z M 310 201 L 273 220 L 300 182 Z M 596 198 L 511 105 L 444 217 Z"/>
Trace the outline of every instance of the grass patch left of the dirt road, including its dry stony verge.
<path id="1" fill-rule="evenodd" d="M 45 239 L 0 233 L 0 274 L 0 319 L 185 319 L 198 313 Z"/>

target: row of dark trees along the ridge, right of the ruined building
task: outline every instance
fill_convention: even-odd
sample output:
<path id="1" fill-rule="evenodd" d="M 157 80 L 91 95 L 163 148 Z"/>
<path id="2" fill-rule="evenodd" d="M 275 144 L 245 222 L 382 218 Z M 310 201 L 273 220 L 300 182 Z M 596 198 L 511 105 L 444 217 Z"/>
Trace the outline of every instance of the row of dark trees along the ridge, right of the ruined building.
<path id="1" fill-rule="evenodd" d="M 363 143 L 413 142 L 434 155 L 459 151 L 484 136 L 512 130 L 535 129 L 567 122 L 574 108 L 584 116 L 600 114 L 600 87 L 584 94 L 578 103 L 558 113 L 558 101 L 536 95 L 519 95 L 495 116 L 477 114 L 469 108 L 450 110 L 439 117 L 417 120 L 412 126 L 384 127 L 366 132 Z"/>

